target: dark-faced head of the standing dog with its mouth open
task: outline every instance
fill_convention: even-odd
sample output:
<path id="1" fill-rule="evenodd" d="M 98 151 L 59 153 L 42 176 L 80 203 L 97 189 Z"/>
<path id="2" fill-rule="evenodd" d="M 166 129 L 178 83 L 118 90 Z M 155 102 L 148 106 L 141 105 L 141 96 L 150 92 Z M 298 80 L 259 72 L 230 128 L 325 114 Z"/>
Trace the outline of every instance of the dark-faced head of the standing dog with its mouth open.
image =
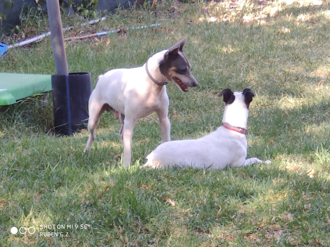
<path id="1" fill-rule="evenodd" d="M 164 54 L 164 59 L 159 64 L 160 72 L 170 81 L 175 81 L 183 92 L 188 92 L 188 87 L 198 85 L 195 77 L 190 73 L 190 64 L 183 53 L 185 39 L 172 46 Z"/>

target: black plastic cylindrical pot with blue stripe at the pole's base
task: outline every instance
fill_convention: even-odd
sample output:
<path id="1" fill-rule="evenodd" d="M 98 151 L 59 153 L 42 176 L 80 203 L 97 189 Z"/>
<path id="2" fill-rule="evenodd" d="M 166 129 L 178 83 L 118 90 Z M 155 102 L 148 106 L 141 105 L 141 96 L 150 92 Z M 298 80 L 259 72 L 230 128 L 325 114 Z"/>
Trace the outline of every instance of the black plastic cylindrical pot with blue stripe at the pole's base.
<path id="1" fill-rule="evenodd" d="M 52 75 L 51 90 L 55 133 L 71 135 L 88 123 L 88 99 L 92 92 L 90 73 Z"/>

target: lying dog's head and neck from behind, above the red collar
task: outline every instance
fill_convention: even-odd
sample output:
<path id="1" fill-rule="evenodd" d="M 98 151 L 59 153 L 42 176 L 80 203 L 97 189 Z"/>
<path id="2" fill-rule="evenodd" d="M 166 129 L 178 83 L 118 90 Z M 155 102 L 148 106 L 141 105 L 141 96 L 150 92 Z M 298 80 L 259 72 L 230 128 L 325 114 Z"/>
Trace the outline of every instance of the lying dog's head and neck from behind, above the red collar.
<path id="1" fill-rule="evenodd" d="M 218 96 L 223 96 L 225 102 L 222 122 L 245 127 L 248 121 L 248 107 L 254 97 L 252 90 L 246 88 L 243 92 L 232 92 L 227 88 L 222 90 Z"/>

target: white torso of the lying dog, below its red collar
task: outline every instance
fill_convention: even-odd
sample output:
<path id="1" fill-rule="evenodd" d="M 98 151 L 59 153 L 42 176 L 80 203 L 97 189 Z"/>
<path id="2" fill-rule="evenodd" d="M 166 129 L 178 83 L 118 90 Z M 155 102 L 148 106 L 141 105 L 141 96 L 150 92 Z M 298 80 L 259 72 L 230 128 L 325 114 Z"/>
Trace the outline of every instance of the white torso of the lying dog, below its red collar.
<path id="1" fill-rule="evenodd" d="M 243 164 L 246 150 L 245 135 L 230 133 L 230 130 L 220 126 L 198 139 L 162 143 L 147 156 L 145 166 L 206 168 L 212 165 L 212 169 L 224 169 L 227 165 Z"/>

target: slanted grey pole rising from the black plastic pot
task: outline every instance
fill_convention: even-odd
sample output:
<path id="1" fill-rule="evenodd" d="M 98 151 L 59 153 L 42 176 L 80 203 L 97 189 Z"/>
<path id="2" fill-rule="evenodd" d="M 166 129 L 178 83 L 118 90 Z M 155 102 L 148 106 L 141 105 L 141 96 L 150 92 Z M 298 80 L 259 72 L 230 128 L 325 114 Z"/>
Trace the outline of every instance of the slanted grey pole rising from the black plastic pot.
<path id="1" fill-rule="evenodd" d="M 56 75 L 68 75 L 59 2 L 58 0 L 46 0 L 46 4 Z"/>

